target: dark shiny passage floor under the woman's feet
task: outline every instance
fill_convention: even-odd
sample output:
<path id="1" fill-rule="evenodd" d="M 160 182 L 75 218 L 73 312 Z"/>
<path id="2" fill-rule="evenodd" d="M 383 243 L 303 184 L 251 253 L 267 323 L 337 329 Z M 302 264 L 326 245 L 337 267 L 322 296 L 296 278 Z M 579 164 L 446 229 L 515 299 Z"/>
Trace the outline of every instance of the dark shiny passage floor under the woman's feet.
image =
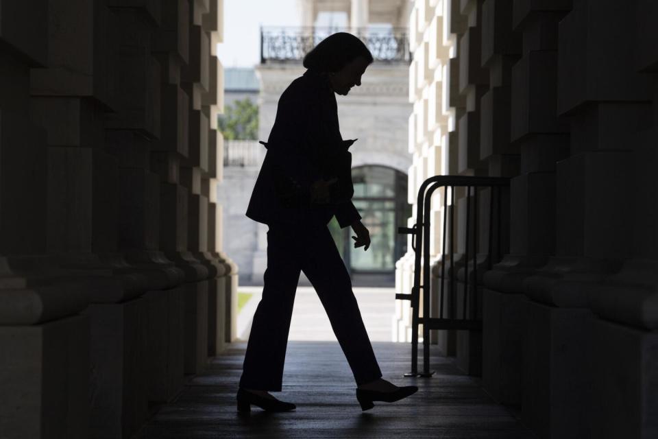
<path id="1" fill-rule="evenodd" d="M 433 347 L 433 346 L 432 346 Z M 236 411 L 245 342 L 210 360 L 188 379 L 172 403 L 159 408 L 137 436 L 155 438 L 534 438 L 509 410 L 494 403 L 479 379 L 463 375 L 452 360 L 432 351 L 432 378 L 406 378 L 411 345 L 373 342 L 384 378 L 417 385 L 396 403 L 376 402 L 362 412 L 356 384 L 338 342 L 290 341 L 283 391 L 273 395 L 297 405 L 269 413 L 252 406 Z M 419 357 L 422 361 L 422 356 Z M 421 363 L 422 364 L 422 363 Z"/>

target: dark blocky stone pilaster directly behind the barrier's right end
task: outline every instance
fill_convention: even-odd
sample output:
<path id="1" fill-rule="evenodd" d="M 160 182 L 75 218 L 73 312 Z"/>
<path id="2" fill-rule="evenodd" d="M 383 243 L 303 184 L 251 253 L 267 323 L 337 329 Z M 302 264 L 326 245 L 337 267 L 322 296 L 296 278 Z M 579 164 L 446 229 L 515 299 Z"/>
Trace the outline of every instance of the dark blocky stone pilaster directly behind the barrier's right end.
<path id="1" fill-rule="evenodd" d="M 512 4 L 486 0 L 482 8 L 483 67 L 489 71 L 489 91 L 483 95 L 480 118 L 480 158 L 486 161 L 489 176 L 513 177 L 519 173 L 520 150 L 511 142 L 512 67 L 521 55 L 521 35 L 513 31 Z M 509 252 L 509 191 L 486 189 L 480 192 L 480 244 L 478 252 L 484 274 Z M 489 208 L 493 203 L 493 228 L 489 230 Z M 499 211 L 500 209 L 500 211 Z M 500 223 L 499 223 L 500 222 Z M 495 231 L 500 230 L 501 236 Z M 493 237 L 489 240 L 489 234 Z M 489 248 L 489 242 L 492 248 Z M 491 261 L 487 260 L 491 257 Z M 521 355 L 517 302 L 519 294 L 502 295 L 483 289 L 483 385 L 497 401 L 520 403 Z"/>

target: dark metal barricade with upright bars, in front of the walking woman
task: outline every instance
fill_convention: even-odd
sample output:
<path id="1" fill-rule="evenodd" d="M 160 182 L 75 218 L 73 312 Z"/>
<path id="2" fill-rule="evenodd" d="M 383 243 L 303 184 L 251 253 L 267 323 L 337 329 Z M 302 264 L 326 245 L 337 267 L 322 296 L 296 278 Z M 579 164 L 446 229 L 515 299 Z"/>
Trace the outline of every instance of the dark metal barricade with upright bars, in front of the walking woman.
<path id="1" fill-rule="evenodd" d="M 439 318 L 430 318 L 430 198 L 432 193 L 443 187 L 443 239 L 441 239 L 441 291 L 440 291 L 440 307 Z M 448 209 L 448 187 L 450 187 L 450 209 Z M 464 277 L 464 302 L 463 302 L 463 318 L 443 318 L 443 302 L 444 302 L 444 285 L 445 285 L 445 270 L 446 270 L 446 222 L 448 210 L 450 210 L 450 292 L 454 299 L 454 188 L 466 187 L 466 229 L 465 229 L 465 277 Z M 498 198 L 496 199 L 497 212 L 499 215 L 498 230 L 498 259 L 500 259 L 500 197 L 501 189 L 509 187 L 509 178 L 504 177 L 476 177 L 476 176 L 433 176 L 425 180 L 418 190 L 417 198 L 417 211 L 416 223 L 413 227 L 399 227 L 398 233 L 412 235 L 412 248 L 415 253 L 414 272 L 413 272 L 413 287 L 411 294 L 396 294 L 395 298 L 399 300 L 411 300 L 411 307 L 413 309 L 411 318 L 411 372 L 404 374 L 407 377 L 431 377 L 434 371 L 430 371 L 429 357 L 430 357 L 430 329 L 478 329 L 481 327 L 481 322 L 477 320 L 477 248 L 478 248 L 478 188 L 491 188 L 491 202 L 489 203 L 489 268 L 491 268 L 491 249 L 493 248 L 493 189 L 498 189 Z M 470 251 L 470 210 L 471 210 L 471 189 L 474 189 L 474 262 L 473 262 L 473 278 L 474 278 L 474 294 L 472 296 L 471 309 L 474 311 L 472 319 L 467 319 L 468 308 L 468 278 L 469 278 L 469 251 Z M 417 242 L 421 241 L 421 247 L 417 248 Z M 422 259 L 422 262 L 421 262 Z M 420 281 L 421 264 L 423 268 L 423 283 Z M 419 296 L 420 289 L 423 289 L 423 314 L 419 316 Z M 456 303 L 454 304 L 452 315 L 456 316 Z M 427 316 L 425 316 L 427 314 Z M 423 372 L 418 372 L 418 325 L 423 324 Z"/>

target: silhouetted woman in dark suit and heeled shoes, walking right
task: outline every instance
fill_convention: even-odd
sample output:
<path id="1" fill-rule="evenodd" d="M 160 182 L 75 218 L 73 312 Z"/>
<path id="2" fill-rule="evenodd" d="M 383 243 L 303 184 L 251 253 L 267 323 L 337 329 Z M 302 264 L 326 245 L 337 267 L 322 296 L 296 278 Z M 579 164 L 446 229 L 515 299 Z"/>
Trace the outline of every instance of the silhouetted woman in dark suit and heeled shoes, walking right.
<path id="1" fill-rule="evenodd" d="M 263 297 L 252 322 L 237 394 L 238 410 L 292 410 L 268 392 L 280 392 L 293 301 L 300 271 L 308 277 L 327 312 L 356 380 L 363 410 L 372 401 L 398 401 L 417 390 L 382 379 L 352 281 L 327 227 L 335 215 L 352 227 L 354 247 L 370 246 L 351 198 L 354 141 L 343 141 L 336 97 L 361 85 L 373 61 L 367 47 L 340 32 L 322 40 L 304 58 L 306 72 L 281 95 L 267 154 L 249 200 L 247 216 L 267 224 L 267 269 Z"/>

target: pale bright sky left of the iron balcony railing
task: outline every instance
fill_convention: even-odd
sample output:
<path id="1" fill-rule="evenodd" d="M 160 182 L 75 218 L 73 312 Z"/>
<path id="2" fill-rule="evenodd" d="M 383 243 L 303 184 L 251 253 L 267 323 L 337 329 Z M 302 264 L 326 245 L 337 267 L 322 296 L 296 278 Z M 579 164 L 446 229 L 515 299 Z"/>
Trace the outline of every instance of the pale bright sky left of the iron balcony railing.
<path id="1" fill-rule="evenodd" d="M 224 0 L 224 41 L 217 45 L 223 67 L 260 62 L 260 26 L 299 26 L 296 0 Z"/>

